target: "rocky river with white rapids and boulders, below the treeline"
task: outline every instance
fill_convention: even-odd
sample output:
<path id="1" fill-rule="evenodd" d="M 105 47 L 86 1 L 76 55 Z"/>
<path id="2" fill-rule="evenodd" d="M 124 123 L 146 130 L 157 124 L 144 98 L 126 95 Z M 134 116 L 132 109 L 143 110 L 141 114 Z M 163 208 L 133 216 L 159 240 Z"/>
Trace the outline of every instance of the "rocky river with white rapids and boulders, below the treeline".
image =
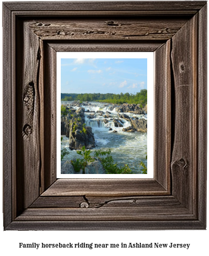
<path id="1" fill-rule="evenodd" d="M 140 108 L 134 104 L 78 101 L 65 102 L 63 106 L 67 111 L 62 111 L 65 115 L 61 116 L 61 136 L 66 137 L 62 140 L 61 148 L 72 151 L 62 162 L 62 173 L 67 170 L 68 173 L 80 173 L 72 169 L 70 161 L 79 158 L 75 150 L 81 150 L 83 146 L 91 149 L 92 153 L 98 149 L 111 149 L 120 167 L 128 163 L 134 173 L 140 173 L 138 162 L 146 161 L 147 152 L 147 106 Z M 94 166 L 95 161 L 91 165 Z M 98 172 L 86 169 L 85 173 Z"/>

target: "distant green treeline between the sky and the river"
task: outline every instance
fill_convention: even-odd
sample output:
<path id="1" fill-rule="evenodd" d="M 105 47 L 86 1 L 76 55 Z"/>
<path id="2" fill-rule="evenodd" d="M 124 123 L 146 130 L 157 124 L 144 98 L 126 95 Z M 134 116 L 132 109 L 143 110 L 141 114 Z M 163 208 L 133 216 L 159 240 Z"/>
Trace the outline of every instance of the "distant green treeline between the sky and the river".
<path id="1" fill-rule="evenodd" d="M 100 101 L 104 103 L 123 104 L 147 104 L 147 89 L 142 89 L 140 93 L 129 94 L 61 94 L 63 101 Z"/>

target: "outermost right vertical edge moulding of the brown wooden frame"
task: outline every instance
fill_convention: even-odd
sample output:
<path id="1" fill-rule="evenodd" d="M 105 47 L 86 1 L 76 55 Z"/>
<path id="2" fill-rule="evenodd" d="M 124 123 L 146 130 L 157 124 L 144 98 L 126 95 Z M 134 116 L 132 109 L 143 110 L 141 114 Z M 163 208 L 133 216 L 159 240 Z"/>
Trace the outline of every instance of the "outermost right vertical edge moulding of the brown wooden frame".
<path id="1" fill-rule="evenodd" d="M 197 52 L 197 190 L 198 218 L 206 228 L 207 185 L 207 5 L 199 12 Z"/>

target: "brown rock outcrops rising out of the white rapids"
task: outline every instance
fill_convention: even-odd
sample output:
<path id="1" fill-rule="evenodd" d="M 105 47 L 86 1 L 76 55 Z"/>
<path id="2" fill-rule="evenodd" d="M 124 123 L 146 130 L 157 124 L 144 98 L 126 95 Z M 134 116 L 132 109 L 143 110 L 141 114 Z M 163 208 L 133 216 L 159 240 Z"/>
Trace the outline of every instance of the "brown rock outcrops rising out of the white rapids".
<path id="1" fill-rule="evenodd" d="M 124 127 L 124 121 L 130 122 L 128 127 L 124 127 L 124 132 L 136 132 L 144 131 L 147 132 L 147 119 L 138 118 L 136 116 L 130 117 L 124 113 L 133 113 L 136 115 L 145 115 L 147 114 L 147 105 L 144 108 L 141 108 L 140 105 L 136 104 L 123 104 L 123 105 L 109 105 L 106 104 L 104 107 L 108 107 L 109 111 L 102 110 L 89 110 L 87 107 L 92 107 L 93 105 L 89 102 L 80 103 L 79 101 L 73 101 L 70 104 L 64 105 L 67 109 L 67 116 L 61 116 L 61 135 L 65 135 L 70 138 L 69 148 L 81 149 L 85 146 L 87 149 L 92 149 L 95 147 L 94 134 L 92 128 L 85 126 L 85 112 L 88 114 L 87 119 L 95 119 L 98 116 L 104 117 L 101 120 L 97 120 L 97 125 L 100 126 L 103 122 L 105 126 L 112 132 L 116 132 L 114 127 Z M 75 109 L 75 107 L 77 109 Z M 85 107 L 85 108 L 84 108 Z M 111 115 L 111 111 L 118 112 L 117 118 Z M 122 113 L 122 114 L 119 114 Z M 114 127 L 111 128 L 111 125 L 114 124 Z"/>

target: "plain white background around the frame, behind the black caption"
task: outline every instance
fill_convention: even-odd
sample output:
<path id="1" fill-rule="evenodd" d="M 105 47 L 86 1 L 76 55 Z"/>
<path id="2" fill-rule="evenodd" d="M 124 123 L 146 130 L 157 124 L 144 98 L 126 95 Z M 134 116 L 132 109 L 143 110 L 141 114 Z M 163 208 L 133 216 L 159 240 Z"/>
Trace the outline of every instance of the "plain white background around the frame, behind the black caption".
<path id="1" fill-rule="evenodd" d="M 168 1 L 168 0 L 167 0 Z M 2 8 L 2 6 L 1 6 Z M 2 9 L 1 9 L 2 13 Z M 1 27 L 1 46 L 2 46 L 2 27 Z M 2 52 L 2 51 L 1 51 Z M 2 62 L 1 62 L 2 65 Z M 1 69 L 2 70 L 2 69 Z M 2 84 L 2 81 L 1 81 Z M 2 102 L 2 90 L 1 90 Z M 2 104 L 1 104 L 1 118 L 2 118 Z M 2 119 L 1 119 L 1 134 L 2 134 Z M 2 144 L 2 140 L 1 140 Z M 2 145 L 1 145 L 1 159 L 2 163 Z M 2 171 L 2 166 L 1 166 Z M 1 185 L 2 185 L 2 175 Z M 207 182 L 207 187 L 208 182 Z M 1 189 L 2 193 L 2 189 Z M 207 200 L 208 201 L 208 200 Z M 208 203 L 207 203 L 208 205 Z M 2 208 L 2 196 L 0 206 Z M 208 209 L 208 207 L 207 207 Z M 2 210 L 0 211 L 2 212 Z M 208 211 L 207 211 L 208 212 Z M 207 213 L 208 220 L 208 213 Z M 7 255 L 113 255 L 115 253 L 122 255 L 208 255 L 208 230 L 168 230 L 168 231 L 3 231 L 3 215 L 1 221 L 1 252 Z M 190 248 L 187 249 L 20 249 L 19 242 L 23 243 L 190 243 Z"/>

